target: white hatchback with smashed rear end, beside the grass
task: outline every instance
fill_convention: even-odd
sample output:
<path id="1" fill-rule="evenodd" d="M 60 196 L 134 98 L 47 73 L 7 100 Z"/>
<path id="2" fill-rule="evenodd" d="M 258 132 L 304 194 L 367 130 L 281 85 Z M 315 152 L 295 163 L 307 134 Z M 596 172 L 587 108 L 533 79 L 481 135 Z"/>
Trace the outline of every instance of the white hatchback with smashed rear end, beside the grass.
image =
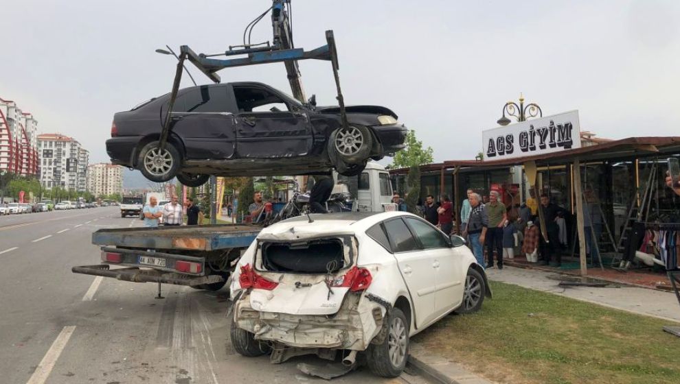
<path id="1" fill-rule="evenodd" d="M 310 219 L 312 220 L 310 222 Z M 465 241 L 405 212 L 302 216 L 264 228 L 231 280 L 231 344 L 280 363 L 304 354 L 398 376 L 409 336 L 491 297 Z"/>

